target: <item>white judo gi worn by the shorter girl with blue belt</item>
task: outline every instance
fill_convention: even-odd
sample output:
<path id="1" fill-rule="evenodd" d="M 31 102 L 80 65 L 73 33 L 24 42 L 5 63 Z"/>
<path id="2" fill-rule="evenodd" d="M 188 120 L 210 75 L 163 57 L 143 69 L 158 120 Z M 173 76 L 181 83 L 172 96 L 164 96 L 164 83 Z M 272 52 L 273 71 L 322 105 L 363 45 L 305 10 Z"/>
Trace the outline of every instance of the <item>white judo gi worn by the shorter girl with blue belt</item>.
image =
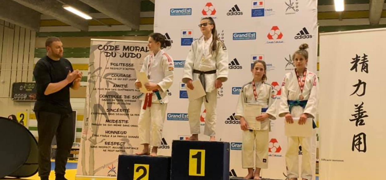
<path id="1" fill-rule="evenodd" d="M 267 119 L 261 121 L 260 130 L 243 131 L 242 141 L 242 167 L 243 168 L 268 168 L 268 132 L 271 129 L 270 120 L 276 119 L 275 94 L 271 85 L 261 82 L 255 82 L 257 100 L 253 92 L 253 84 L 249 82 L 242 87 L 239 100 L 237 101 L 237 110 L 235 117 L 241 119 L 244 117 L 244 104 L 258 104 L 262 107 L 262 113 L 265 111 L 269 115 Z M 256 165 L 254 165 L 254 150 L 256 151 Z"/>

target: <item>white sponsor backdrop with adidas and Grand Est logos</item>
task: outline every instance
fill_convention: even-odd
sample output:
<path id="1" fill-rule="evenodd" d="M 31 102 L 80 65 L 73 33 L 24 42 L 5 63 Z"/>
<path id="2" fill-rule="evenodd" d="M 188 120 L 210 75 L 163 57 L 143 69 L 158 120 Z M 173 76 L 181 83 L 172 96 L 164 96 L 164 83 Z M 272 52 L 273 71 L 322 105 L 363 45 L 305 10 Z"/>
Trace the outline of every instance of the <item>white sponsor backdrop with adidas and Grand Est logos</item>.
<path id="1" fill-rule="evenodd" d="M 216 138 L 231 143 L 230 169 L 234 170 L 231 174 L 242 176 L 246 173 L 241 168 L 242 131 L 234 112 L 242 85 L 252 80 L 251 63 L 256 59 L 266 61 L 267 83 L 276 89 L 276 98 L 281 94 L 284 74 L 294 69 L 291 56 L 300 44 L 309 44 L 308 70 L 316 73 L 317 0 L 156 0 L 154 32 L 162 33 L 172 41 L 172 47 L 167 51 L 175 65 L 161 155 L 171 155 L 173 139 L 190 136 L 188 99 L 181 79 L 191 42 L 201 36 L 200 19 L 208 16 L 215 19 L 218 36 L 229 52 L 229 79 L 218 92 Z M 205 109 L 201 112 L 204 123 Z M 278 118 L 271 124 L 269 168 L 262 175 L 283 178 L 287 146 L 284 121 Z M 203 135 L 199 138 L 209 139 Z"/>

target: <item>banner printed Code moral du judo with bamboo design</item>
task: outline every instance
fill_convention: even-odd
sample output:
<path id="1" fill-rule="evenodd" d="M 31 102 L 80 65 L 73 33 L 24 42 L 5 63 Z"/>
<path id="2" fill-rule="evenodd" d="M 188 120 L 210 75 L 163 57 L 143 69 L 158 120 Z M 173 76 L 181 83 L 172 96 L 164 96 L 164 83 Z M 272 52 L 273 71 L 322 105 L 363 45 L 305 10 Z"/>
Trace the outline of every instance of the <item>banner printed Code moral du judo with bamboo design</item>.
<path id="1" fill-rule="evenodd" d="M 116 177 L 118 156 L 139 151 L 135 69 L 147 54 L 146 41 L 91 39 L 77 175 Z"/>

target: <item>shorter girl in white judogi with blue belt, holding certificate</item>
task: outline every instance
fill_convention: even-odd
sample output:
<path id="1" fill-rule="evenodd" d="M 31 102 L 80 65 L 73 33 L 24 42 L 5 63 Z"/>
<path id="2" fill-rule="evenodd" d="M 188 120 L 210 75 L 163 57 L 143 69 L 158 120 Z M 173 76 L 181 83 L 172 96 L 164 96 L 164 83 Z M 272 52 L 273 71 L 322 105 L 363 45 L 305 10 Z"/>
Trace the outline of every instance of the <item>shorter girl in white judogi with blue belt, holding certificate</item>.
<path id="1" fill-rule="evenodd" d="M 268 168 L 268 132 L 270 131 L 270 119 L 276 119 L 275 99 L 273 98 L 274 88 L 266 84 L 266 63 L 258 60 L 252 64 L 253 80 L 245 84 L 237 101 L 235 117 L 240 119 L 240 126 L 243 130 L 242 140 L 242 168 L 248 168 L 248 175 L 245 179 L 261 179 L 261 168 Z M 244 107 L 247 104 L 257 104 L 262 107 L 261 115 L 256 121 L 261 122 L 260 129 L 251 128 L 245 121 Z M 256 164 L 254 151 L 256 151 Z M 253 169 L 256 167 L 256 170 Z"/>

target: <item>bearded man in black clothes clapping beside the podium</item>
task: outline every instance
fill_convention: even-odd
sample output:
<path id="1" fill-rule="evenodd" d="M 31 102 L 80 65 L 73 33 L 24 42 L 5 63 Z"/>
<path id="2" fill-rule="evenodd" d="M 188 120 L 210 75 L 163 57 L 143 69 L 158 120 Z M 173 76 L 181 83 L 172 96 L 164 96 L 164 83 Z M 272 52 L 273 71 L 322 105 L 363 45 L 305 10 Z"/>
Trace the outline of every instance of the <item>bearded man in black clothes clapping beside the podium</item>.
<path id="1" fill-rule="evenodd" d="M 73 70 L 63 57 L 63 44 L 57 37 L 46 40 L 47 56 L 37 61 L 34 69 L 37 100 L 34 111 L 39 134 L 39 176 L 48 180 L 51 171 L 51 142 L 56 135 L 56 180 L 66 180 L 66 163 L 74 140 L 74 122 L 70 90 L 80 87 L 82 73 Z"/>

